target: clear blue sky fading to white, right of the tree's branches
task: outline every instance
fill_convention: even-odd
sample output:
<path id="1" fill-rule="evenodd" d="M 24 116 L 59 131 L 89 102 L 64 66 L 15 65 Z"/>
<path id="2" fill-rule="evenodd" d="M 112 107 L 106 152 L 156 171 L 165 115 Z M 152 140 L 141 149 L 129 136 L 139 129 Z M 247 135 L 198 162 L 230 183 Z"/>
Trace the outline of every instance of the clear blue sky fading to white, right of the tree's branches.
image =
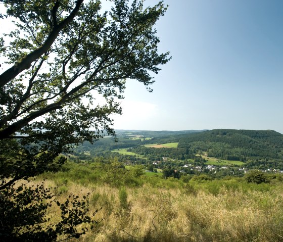
<path id="1" fill-rule="evenodd" d="M 283 133 L 283 1 L 164 3 L 159 50 L 170 51 L 172 60 L 156 76 L 153 93 L 127 81 L 114 128 Z"/>

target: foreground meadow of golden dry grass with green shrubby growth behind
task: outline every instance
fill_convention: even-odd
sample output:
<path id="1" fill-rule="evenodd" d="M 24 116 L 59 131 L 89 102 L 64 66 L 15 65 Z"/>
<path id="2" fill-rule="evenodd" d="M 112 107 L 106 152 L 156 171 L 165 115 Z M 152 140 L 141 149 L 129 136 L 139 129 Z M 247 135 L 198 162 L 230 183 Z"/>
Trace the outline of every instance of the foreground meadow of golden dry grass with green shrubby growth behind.
<path id="1" fill-rule="evenodd" d="M 60 202 L 71 193 L 88 196 L 96 226 L 71 241 L 282 241 L 282 176 L 269 183 L 207 175 L 164 179 L 138 166 L 69 163 L 38 177 Z M 153 173 L 152 173 L 153 174 Z M 57 219 L 58 206 L 50 213 Z M 81 225 L 85 228 L 88 225 Z M 65 239 L 60 237 L 60 240 Z"/>

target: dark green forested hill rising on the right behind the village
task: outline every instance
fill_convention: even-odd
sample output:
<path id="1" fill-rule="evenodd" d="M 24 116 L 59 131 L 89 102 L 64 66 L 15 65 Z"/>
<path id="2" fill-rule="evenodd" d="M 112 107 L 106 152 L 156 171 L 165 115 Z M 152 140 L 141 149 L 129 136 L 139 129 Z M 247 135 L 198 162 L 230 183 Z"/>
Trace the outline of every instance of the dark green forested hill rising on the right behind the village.
<path id="1" fill-rule="evenodd" d="M 283 135 L 273 130 L 214 129 L 187 134 L 178 148 L 225 160 L 283 159 Z"/>

